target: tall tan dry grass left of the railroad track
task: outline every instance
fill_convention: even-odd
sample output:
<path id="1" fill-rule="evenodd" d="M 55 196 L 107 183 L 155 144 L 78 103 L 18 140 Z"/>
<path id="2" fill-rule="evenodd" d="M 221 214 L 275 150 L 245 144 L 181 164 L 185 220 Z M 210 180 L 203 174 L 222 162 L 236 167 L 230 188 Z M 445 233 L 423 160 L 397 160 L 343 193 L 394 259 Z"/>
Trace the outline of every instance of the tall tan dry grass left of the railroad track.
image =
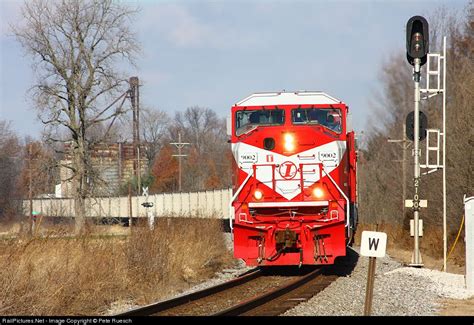
<path id="1" fill-rule="evenodd" d="M 1 315 L 106 314 L 146 304 L 231 263 L 218 220 L 159 219 L 129 236 L 0 241 Z"/>

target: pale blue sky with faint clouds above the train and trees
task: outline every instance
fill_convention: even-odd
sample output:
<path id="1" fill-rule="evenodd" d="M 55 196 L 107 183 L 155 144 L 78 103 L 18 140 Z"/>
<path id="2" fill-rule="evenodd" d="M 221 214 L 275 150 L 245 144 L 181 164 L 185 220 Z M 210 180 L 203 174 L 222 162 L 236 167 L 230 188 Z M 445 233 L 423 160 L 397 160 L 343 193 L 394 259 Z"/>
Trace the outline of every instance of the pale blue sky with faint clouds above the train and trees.
<path id="1" fill-rule="evenodd" d="M 382 65 L 405 49 L 413 15 L 467 0 L 431 1 L 127 1 L 142 10 L 134 28 L 142 43 L 137 75 L 142 105 L 171 115 L 189 106 L 224 117 L 251 93 L 321 90 L 349 105 L 356 130 L 366 128 L 369 99 Z M 42 124 L 27 98 L 31 59 L 8 23 L 22 2 L 0 0 L 0 119 L 22 136 L 38 137 Z M 436 51 L 437 49 L 431 49 Z M 401 69 L 410 69 L 407 65 Z"/>

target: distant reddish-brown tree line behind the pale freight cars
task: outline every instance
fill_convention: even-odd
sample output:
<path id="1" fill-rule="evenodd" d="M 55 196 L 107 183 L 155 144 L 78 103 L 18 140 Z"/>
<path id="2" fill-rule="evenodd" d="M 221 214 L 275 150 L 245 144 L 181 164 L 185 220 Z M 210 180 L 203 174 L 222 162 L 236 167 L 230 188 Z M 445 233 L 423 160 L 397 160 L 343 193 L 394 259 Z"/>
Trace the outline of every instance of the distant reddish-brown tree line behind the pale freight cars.
<path id="1" fill-rule="evenodd" d="M 193 106 L 170 117 L 165 111 L 142 111 L 141 141 L 144 144 L 148 168 L 142 176 L 142 185 L 149 193 L 178 191 L 177 149 L 171 144 L 178 134 L 190 143 L 182 150 L 187 155 L 182 164 L 182 190 L 199 191 L 231 186 L 231 153 L 226 135 L 225 118 L 209 108 Z M 129 140 L 131 122 L 124 120 L 103 139 L 107 143 Z M 60 161 L 64 152 L 49 142 L 21 139 L 7 121 L 0 121 L 0 184 L 2 207 L 7 202 L 54 194 L 55 185 L 64 181 L 60 175 Z M 59 146 L 60 147 L 60 146 Z M 92 164 L 92 168 L 94 165 Z M 98 174 L 98 173 L 97 173 Z M 97 176 L 100 177 L 100 176 Z M 118 187 L 112 195 L 128 194 L 128 182 Z M 94 194 L 94 193 L 92 193 Z M 135 193 L 134 193 L 135 194 Z M 11 207 L 13 208 L 13 207 Z"/>

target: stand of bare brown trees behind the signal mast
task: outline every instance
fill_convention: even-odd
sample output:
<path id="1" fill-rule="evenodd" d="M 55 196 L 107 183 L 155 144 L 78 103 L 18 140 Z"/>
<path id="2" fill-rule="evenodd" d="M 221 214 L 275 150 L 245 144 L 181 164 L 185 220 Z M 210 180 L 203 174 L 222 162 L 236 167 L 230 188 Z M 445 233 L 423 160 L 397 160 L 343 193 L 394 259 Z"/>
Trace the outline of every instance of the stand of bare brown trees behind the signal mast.
<path id="1" fill-rule="evenodd" d="M 440 14 L 441 13 L 441 14 Z M 430 48 L 441 49 L 441 36 L 448 36 L 447 44 L 447 216 L 448 227 L 457 231 L 463 214 L 462 197 L 474 189 L 474 2 L 467 5 L 464 17 L 458 20 L 451 12 L 437 11 L 430 21 Z M 432 41 L 431 41 L 432 40 Z M 425 67 L 426 68 L 426 67 Z M 401 148 L 388 145 L 387 137 L 401 138 L 405 117 L 413 109 L 412 68 L 400 51 L 384 64 L 381 71 L 382 90 L 375 97 L 371 121 L 372 132 L 367 140 L 363 159 L 359 164 L 360 215 L 368 222 L 401 223 L 402 199 L 413 194 L 413 183 L 407 184 L 407 197 L 402 198 Z M 424 75 L 423 75 L 424 77 Z M 441 126 L 441 96 L 424 101 L 421 108 L 428 116 L 428 127 Z M 421 142 L 426 149 L 426 140 Z M 405 162 L 407 180 L 413 177 L 413 159 Z M 426 226 L 437 227 L 442 222 L 441 172 L 423 175 L 422 198 L 429 202 L 423 210 Z M 406 209 L 404 224 L 412 216 Z"/>

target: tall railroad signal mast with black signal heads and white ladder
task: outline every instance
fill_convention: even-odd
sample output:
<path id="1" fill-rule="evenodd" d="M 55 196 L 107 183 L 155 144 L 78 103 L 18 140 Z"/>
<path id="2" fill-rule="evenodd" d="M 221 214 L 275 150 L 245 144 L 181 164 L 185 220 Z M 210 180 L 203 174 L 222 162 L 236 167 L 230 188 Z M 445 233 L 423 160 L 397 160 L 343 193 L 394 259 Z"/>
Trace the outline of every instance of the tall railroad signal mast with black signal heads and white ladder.
<path id="1" fill-rule="evenodd" d="M 407 60 L 413 66 L 413 80 L 415 83 L 415 110 L 408 114 L 406 119 L 406 135 L 413 141 L 414 157 L 414 195 L 413 200 L 406 200 L 406 206 L 413 209 L 413 236 L 414 252 L 411 266 L 422 267 L 421 254 L 419 250 L 419 237 L 423 233 L 422 223 L 419 219 L 419 211 L 422 207 L 427 207 L 426 200 L 420 200 L 419 185 L 421 173 L 420 169 L 430 169 L 423 175 L 432 173 L 438 169 L 443 169 L 443 251 L 444 251 L 444 271 L 446 271 L 446 37 L 443 38 L 443 54 L 429 53 L 429 29 L 428 22 L 422 16 L 413 16 L 407 22 L 406 28 L 406 48 Z M 426 88 L 420 88 L 421 67 L 427 63 L 426 68 Z M 437 78 L 435 85 L 430 86 L 430 80 Z M 442 80 L 442 82 L 441 82 Z M 421 97 L 421 93 L 426 94 Z M 443 94 L 443 130 L 427 129 L 428 120 L 425 114 L 420 111 L 421 99 L 427 100 L 438 94 Z M 436 146 L 433 143 L 433 136 L 436 137 Z M 426 162 L 420 163 L 421 149 L 420 141 L 426 138 Z M 440 147 L 442 143 L 442 164 L 440 163 Z M 430 163 L 430 154 L 436 154 L 436 162 Z"/>

